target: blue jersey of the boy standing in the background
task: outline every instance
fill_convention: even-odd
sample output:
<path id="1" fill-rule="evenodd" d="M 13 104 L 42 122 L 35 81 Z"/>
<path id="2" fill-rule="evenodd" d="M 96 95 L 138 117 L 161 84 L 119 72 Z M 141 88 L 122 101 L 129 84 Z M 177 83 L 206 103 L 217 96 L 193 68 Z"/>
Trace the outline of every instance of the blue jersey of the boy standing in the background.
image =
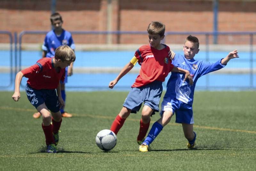
<path id="1" fill-rule="evenodd" d="M 55 50 L 61 45 L 68 45 L 71 49 L 75 50 L 71 33 L 62 29 L 61 35 L 56 35 L 54 30 L 52 30 L 46 34 L 42 49 L 47 51 L 46 57 L 51 58 L 54 56 Z"/>

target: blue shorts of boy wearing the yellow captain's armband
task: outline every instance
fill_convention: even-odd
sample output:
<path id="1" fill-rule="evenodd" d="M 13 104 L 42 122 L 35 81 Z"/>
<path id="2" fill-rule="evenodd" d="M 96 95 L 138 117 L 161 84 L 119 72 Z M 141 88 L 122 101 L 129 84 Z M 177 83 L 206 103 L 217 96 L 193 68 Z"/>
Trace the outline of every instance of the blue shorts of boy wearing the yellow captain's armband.
<path id="1" fill-rule="evenodd" d="M 159 101 L 163 92 L 162 82 L 154 81 L 142 87 L 132 87 L 123 106 L 131 109 L 131 113 L 137 113 L 142 103 L 153 109 L 153 114 L 159 111 Z"/>

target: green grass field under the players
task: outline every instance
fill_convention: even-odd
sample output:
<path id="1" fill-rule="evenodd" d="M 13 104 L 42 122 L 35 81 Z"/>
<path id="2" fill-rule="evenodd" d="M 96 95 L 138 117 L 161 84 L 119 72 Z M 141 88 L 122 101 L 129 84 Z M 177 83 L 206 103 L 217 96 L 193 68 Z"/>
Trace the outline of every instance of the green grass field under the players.
<path id="1" fill-rule="evenodd" d="M 67 92 L 58 153 L 45 153 L 42 119 L 24 92 L 0 97 L 0 170 L 256 170 L 256 92 L 196 92 L 193 104 L 197 150 L 188 150 L 175 116 L 151 144 L 138 151 L 140 113 L 131 114 L 116 147 L 101 151 L 95 136 L 109 129 L 128 92 Z M 153 115 L 151 125 L 159 118 Z"/>

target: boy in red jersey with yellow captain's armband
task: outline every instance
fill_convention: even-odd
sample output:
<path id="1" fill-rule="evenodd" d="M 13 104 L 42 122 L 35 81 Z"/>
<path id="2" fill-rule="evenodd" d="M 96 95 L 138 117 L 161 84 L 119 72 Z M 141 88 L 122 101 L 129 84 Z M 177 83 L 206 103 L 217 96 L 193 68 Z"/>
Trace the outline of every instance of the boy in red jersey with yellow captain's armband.
<path id="1" fill-rule="evenodd" d="M 139 63 L 141 66 L 140 74 L 132 85 L 132 90 L 125 99 L 123 108 L 110 128 L 111 131 L 117 134 L 130 113 L 138 112 L 144 102 L 141 112 L 140 131 L 137 136 L 138 144 L 144 141 L 149 128 L 150 116 L 159 111 L 158 106 L 163 91 L 162 82 L 164 82 L 169 72 L 185 73 L 184 81 L 188 78 L 190 84 L 193 84 L 193 80 L 187 70 L 172 65 L 172 61 L 169 58 L 170 48 L 160 43 L 164 39 L 164 24 L 153 21 L 148 25 L 147 31 L 149 44 L 141 46 L 135 52 L 132 60 L 124 66 L 116 79 L 111 81 L 108 86 L 112 89 L 137 62 Z"/>

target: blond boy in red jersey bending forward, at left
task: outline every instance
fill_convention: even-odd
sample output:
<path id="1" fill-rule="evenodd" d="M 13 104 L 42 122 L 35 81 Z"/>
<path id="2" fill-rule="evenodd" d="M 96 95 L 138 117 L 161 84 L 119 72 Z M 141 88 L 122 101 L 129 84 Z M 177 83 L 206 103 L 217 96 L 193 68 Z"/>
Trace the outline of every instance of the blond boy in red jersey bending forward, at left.
<path id="1" fill-rule="evenodd" d="M 17 73 L 15 78 L 15 91 L 12 95 L 14 101 L 18 101 L 20 98 L 22 77 L 28 78 L 26 85 L 27 97 L 42 115 L 42 128 L 48 153 L 57 152 L 58 131 L 62 121 L 60 108 L 65 106 L 60 92 L 60 80 L 65 79 L 65 68 L 75 60 L 75 53 L 69 46 L 59 46 L 54 57 L 39 59 L 35 65 Z"/>

